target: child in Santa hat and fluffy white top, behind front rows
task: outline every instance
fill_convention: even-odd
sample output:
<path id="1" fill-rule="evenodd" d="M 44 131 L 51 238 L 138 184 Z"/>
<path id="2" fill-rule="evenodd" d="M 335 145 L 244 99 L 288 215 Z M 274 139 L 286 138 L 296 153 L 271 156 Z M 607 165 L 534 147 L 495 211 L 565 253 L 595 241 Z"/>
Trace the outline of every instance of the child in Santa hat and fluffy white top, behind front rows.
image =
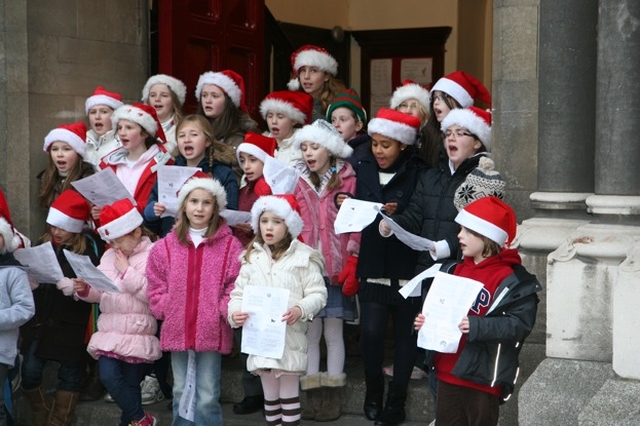
<path id="1" fill-rule="evenodd" d="M 269 134 L 278 141 L 275 158 L 295 166 L 302 159 L 300 150 L 293 149 L 293 134 L 311 122 L 313 97 L 305 92 L 283 90 L 269 93 L 260 103 L 260 114 L 267 122 Z"/>

